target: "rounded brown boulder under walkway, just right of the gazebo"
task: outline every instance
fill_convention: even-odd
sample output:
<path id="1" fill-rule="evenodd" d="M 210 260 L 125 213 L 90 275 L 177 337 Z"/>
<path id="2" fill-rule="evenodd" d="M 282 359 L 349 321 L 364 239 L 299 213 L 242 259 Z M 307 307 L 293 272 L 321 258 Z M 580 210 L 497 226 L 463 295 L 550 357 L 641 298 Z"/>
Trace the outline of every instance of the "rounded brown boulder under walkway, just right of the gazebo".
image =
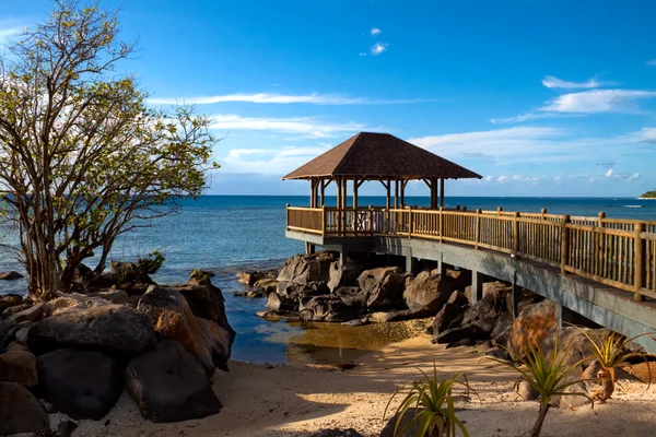
<path id="1" fill-rule="evenodd" d="M 403 292 L 406 305 L 413 311 L 426 310 L 436 314 L 449 298 L 442 276 L 437 270 L 423 271 L 409 281 Z"/>

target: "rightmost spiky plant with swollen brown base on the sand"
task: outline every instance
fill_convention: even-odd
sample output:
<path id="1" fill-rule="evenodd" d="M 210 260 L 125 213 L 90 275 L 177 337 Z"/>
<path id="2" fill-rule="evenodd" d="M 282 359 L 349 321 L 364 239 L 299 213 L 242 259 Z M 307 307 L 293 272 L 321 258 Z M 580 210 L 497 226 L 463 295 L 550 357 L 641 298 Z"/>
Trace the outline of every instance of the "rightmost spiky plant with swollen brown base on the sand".
<path id="1" fill-rule="evenodd" d="M 628 349 L 629 343 L 631 343 L 633 340 L 644 335 L 652 335 L 652 332 L 645 332 L 628 339 L 624 335 L 618 334 L 617 332 L 609 332 L 602 336 L 595 332 L 588 333 L 579 327 L 575 328 L 586 336 L 590 345 L 591 354 L 601 366 L 599 377 L 601 378 L 602 389 L 593 394 L 593 398 L 598 398 L 599 402 L 606 402 L 608 399 L 610 399 L 614 391 L 616 367 L 621 366 L 631 358 L 644 358 L 646 362 L 648 356 L 653 356 L 641 352 L 630 352 Z M 653 336 L 652 339 L 654 340 Z M 649 371 L 651 383 L 652 369 L 649 366 L 647 366 L 647 370 Z"/>

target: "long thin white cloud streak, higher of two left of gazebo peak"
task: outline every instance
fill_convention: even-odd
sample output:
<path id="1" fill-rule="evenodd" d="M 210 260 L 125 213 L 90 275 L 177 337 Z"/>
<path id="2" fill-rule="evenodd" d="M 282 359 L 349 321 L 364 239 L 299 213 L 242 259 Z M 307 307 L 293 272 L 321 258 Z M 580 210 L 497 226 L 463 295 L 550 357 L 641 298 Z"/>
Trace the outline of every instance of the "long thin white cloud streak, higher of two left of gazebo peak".
<path id="1" fill-rule="evenodd" d="M 196 97 L 163 97 L 149 98 L 151 105 L 214 105 L 219 103 L 256 103 L 256 104 L 309 104 L 309 105 L 396 105 L 423 102 L 420 99 L 373 99 L 364 97 L 348 97 L 337 94 L 224 94 Z"/>

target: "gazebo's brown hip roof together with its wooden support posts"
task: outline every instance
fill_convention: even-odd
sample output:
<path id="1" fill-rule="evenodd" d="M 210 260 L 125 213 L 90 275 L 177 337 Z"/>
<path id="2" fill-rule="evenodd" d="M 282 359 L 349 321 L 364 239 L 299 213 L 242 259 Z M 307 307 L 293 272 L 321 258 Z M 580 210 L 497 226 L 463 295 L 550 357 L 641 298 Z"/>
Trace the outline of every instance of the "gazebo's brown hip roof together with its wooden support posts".
<path id="1" fill-rule="evenodd" d="M 335 182 L 337 208 L 342 210 L 347 209 L 347 186 L 352 181 L 352 208 L 356 210 L 358 189 L 367 180 L 383 184 L 387 191 L 387 209 L 403 208 L 408 182 L 423 180 L 431 190 L 431 209 L 437 209 L 444 206 L 445 180 L 466 178 L 481 179 L 481 175 L 389 133 L 360 132 L 282 180 L 309 180 L 311 208 L 326 204 L 326 188 Z"/>

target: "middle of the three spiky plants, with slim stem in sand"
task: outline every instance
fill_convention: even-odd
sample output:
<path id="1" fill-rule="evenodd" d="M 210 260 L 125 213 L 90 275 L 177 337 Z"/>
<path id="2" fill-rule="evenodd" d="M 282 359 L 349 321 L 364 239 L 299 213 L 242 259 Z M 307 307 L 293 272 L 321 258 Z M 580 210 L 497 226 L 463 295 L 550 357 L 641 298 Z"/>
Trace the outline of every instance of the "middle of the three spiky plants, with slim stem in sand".
<path id="1" fill-rule="evenodd" d="M 520 366 L 515 366 L 513 363 L 507 363 L 495 357 L 488 357 L 508 366 L 513 370 L 517 371 L 520 376 L 519 380 L 524 378 L 528 385 L 538 392 L 540 395 L 540 411 L 538 420 L 530 430 L 530 437 L 538 437 L 542 430 L 544 418 L 551 408 L 551 399 L 557 395 L 581 395 L 587 398 L 590 401 L 590 405 L 594 404 L 593 400 L 584 392 L 566 391 L 567 388 L 576 386 L 581 382 L 587 382 L 596 379 L 582 379 L 582 378 L 570 378 L 571 374 L 579 367 L 584 362 L 581 359 L 574 364 L 567 364 L 567 355 L 559 353 L 558 349 L 558 335 L 553 344 L 553 351 L 548 356 L 543 349 L 539 344 L 529 342 L 529 350 L 526 356 L 517 358 Z"/>

